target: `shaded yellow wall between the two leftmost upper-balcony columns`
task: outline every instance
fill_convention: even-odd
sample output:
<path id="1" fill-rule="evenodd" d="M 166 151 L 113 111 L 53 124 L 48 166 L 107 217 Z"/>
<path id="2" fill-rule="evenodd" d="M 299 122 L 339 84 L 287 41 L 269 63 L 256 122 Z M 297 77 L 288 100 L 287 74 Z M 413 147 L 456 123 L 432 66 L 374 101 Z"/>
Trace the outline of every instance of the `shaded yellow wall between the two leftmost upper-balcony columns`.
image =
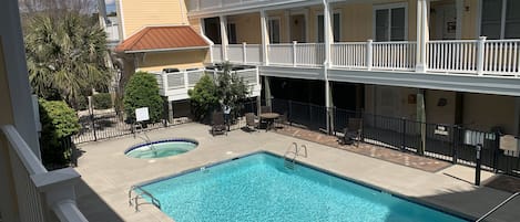
<path id="1" fill-rule="evenodd" d="M 259 13 L 231 15 L 227 23 L 235 23 L 237 43 L 262 44 Z"/>

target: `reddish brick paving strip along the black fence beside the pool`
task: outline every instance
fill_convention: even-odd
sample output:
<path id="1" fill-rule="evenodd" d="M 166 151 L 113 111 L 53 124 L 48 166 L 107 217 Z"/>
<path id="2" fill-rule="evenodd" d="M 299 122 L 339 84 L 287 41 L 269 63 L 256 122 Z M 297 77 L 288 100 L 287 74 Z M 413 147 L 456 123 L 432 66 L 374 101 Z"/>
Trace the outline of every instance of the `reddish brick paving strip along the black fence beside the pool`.
<path id="1" fill-rule="evenodd" d="M 402 165 L 402 166 L 408 166 L 408 167 L 425 170 L 428 172 L 437 172 L 439 170 L 442 170 L 451 166 L 450 162 L 446 162 L 442 160 L 437 160 L 437 159 L 432 159 L 428 157 L 420 157 L 417 155 L 406 154 L 406 152 L 391 150 L 388 148 L 383 148 L 383 147 L 368 145 L 364 142 L 359 142 L 358 147 L 353 146 L 353 145 L 340 145 L 338 142 L 338 137 L 336 136 L 329 136 L 323 133 L 312 131 L 308 129 L 303 129 L 303 128 L 298 128 L 294 126 L 284 126 L 284 127 L 277 128 L 275 131 L 282 135 L 292 136 L 292 137 L 296 137 L 299 139 L 305 139 L 308 141 L 356 152 L 356 154 L 373 157 L 376 159 L 390 161 L 390 162 Z"/>

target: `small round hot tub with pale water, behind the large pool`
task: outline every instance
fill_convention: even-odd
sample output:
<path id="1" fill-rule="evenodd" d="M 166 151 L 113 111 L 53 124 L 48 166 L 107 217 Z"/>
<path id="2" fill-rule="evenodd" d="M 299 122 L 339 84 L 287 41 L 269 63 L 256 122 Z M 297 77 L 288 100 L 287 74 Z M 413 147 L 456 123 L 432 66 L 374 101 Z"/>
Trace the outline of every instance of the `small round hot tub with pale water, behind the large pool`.
<path id="1" fill-rule="evenodd" d="M 130 147 L 124 154 L 140 159 L 163 158 L 181 155 L 195 149 L 198 142 L 193 139 L 165 139 Z"/>

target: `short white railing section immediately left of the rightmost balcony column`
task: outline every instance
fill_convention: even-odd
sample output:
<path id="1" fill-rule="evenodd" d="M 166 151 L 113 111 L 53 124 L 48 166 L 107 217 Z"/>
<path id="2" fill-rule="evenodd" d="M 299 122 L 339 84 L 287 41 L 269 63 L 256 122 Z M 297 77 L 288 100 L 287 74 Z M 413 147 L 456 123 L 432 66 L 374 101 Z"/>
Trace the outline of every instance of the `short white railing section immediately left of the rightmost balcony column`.
<path id="1" fill-rule="evenodd" d="M 374 42 L 373 68 L 414 70 L 417 45 L 415 42 Z"/>

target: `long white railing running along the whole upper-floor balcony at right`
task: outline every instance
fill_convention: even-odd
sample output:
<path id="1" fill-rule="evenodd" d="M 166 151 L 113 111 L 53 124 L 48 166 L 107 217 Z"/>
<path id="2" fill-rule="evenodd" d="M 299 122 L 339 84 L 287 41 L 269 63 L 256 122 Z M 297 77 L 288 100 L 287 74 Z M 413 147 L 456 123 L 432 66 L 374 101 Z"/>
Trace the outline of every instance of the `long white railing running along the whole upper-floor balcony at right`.
<path id="1" fill-rule="evenodd" d="M 230 44 L 226 53 L 236 64 L 320 67 L 324 43 L 268 44 L 267 61 L 262 45 Z M 427 43 L 426 73 L 519 77 L 520 40 L 449 40 Z M 224 62 L 222 45 L 213 45 L 213 62 Z M 415 72 L 417 43 L 337 42 L 330 44 L 330 67 L 337 70 Z"/>

